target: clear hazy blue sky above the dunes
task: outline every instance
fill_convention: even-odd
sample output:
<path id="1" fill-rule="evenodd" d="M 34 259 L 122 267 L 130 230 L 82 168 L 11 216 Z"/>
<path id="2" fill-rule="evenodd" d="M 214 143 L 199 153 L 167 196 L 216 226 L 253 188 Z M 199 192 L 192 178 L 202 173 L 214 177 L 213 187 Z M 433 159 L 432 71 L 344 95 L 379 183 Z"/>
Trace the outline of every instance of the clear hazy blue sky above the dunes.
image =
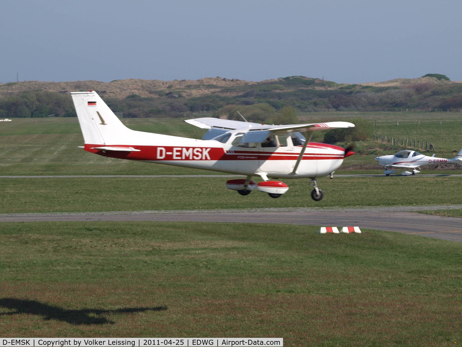
<path id="1" fill-rule="evenodd" d="M 462 80 L 461 1 L 0 1 L 0 82 Z"/>

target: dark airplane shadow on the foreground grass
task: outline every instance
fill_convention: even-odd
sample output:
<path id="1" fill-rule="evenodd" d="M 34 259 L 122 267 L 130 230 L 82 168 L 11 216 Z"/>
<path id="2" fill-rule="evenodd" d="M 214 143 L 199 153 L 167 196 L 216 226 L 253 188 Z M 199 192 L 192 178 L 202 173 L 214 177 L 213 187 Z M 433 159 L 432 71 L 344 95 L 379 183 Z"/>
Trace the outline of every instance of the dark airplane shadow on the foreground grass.
<path id="1" fill-rule="evenodd" d="M 42 304 L 35 300 L 16 299 L 12 297 L 0 299 L 0 307 L 15 310 L 15 312 L 0 313 L 0 316 L 10 316 L 25 313 L 36 316 L 43 316 L 44 320 L 55 319 L 57 321 L 67 322 L 69 324 L 75 325 L 114 324 L 115 322 L 112 322 L 106 317 L 102 316 L 107 314 L 167 310 L 167 306 L 125 307 L 117 310 L 64 310 L 61 307 Z"/>

